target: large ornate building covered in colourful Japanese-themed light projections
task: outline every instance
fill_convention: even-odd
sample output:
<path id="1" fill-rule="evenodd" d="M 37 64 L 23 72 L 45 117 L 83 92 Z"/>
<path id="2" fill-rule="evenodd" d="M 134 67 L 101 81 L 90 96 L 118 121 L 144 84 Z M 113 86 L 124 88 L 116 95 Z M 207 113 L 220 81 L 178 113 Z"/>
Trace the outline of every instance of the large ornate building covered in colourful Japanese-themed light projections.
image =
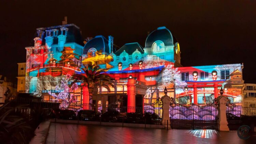
<path id="1" fill-rule="evenodd" d="M 69 88 L 68 78 L 83 73 L 88 63 L 109 74 L 114 87 L 95 87 L 91 103 L 143 107 L 168 95 L 184 105 L 204 105 L 225 89 L 224 96 L 241 104 L 242 64 L 182 67 L 180 44 L 166 27 L 151 32 L 145 47 L 127 43 L 118 50 L 113 37 L 98 35 L 83 44 L 74 24 L 37 29 L 34 46 L 27 49 L 26 92 L 45 100 L 84 102 L 81 84 Z"/>

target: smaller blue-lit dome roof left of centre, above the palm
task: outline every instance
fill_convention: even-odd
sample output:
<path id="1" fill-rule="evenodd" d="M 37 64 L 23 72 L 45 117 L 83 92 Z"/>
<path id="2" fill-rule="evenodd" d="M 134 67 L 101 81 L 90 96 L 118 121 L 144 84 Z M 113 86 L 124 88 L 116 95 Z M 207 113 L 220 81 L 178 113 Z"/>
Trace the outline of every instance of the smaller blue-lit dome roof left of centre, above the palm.
<path id="1" fill-rule="evenodd" d="M 108 43 L 109 41 L 104 36 L 97 35 L 85 44 L 83 54 L 87 54 L 90 48 L 95 48 L 98 52 L 110 53 Z"/>

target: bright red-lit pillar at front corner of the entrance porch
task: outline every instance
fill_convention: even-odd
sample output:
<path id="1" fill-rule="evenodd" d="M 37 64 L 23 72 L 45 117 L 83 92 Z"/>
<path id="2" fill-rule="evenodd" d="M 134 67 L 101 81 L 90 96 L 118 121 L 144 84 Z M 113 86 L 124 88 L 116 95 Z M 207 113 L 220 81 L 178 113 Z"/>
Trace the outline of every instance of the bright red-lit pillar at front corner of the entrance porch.
<path id="1" fill-rule="evenodd" d="M 133 78 L 128 79 L 127 83 L 127 113 L 135 113 L 135 96 L 136 88 Z"/>

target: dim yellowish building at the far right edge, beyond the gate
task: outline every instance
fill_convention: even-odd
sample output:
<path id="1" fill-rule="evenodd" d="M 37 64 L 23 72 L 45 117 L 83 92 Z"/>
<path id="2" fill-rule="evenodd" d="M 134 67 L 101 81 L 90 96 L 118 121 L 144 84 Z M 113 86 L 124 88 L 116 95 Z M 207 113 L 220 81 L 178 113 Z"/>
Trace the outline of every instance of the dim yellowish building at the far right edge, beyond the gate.
<path id="1" fill-rule="evenodd" d="M 242 102 L 244 107 L 256 107 L 256 84 L 245 84 Z"/>

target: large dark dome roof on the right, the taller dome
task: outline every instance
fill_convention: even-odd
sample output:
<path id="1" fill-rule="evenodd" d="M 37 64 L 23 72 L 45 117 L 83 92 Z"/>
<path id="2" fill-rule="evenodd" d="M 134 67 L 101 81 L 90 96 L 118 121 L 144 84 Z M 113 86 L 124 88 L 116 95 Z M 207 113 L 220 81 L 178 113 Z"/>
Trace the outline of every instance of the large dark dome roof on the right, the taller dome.
<path id="1" fill-rule="evenodd" d="M 151 32 L 147 36 L 145 47 L 151 47 L 152 44 L 157 40 L 162 41 L 163 43 L 165 43 L 165 45 L 173 45 L 172 33 L 166 27 L 159 27 Z"/>

